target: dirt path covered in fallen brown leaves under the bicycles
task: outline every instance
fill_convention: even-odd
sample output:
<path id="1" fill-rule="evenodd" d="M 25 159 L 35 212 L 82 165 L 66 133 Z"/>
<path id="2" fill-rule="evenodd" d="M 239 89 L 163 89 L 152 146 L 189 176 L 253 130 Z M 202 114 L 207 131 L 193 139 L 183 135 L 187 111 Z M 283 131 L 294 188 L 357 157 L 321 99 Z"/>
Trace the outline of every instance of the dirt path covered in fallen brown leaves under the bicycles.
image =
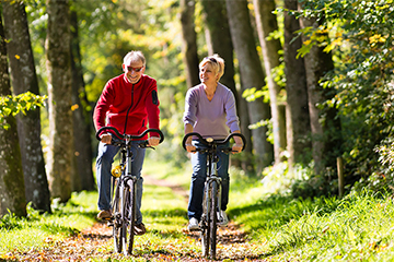
<path id="1" fill-rule="evenodd" d="M 182 187 L 170 183 L 164 180 L 158 180 L 152 177 L 144 177 L 146 184 L 154 184 L 169 187 L 177 194 L 187 200 L 188 192 Z M 197 233 L 183 230 L 188 237 L 198 241 Z M 247 243 L 245 233 L 239 226 L 230 223 L 227 228 L 220 228 L 218 234 L 218 245 L 220 245 L 221 257 L 225 257 L 228 261 L 257 261 L 253 250 L 255 246 Z M 30 250 L 25 253 L 12 254 L 16 260 L 13 261 L 96 261 L 95 259 L 105 261 L 125 260 L 123 254 L 113 252 L 112 227 L 106 223 L 95 223 L 92 227 L 86 228 L 78 235 L 62 241 L 47 239 L 47 247 L 44 250 Z M 181 252 L 182 253 L 182 252 Z M 219 251 L 218 251 L 219 253 Z M 224 254 L 223 254 L 224 253 Z M 152 252 L 149 254 L 140 254 L 135 259 L 138 261 L 206 261 L 200 258 L 200 253 L 186 254 L 178 257 L 179 253 Z M 9 258 L 12 261 L 13 258 Z M 134 261 L 130 259 L 129 261 Z"/>

